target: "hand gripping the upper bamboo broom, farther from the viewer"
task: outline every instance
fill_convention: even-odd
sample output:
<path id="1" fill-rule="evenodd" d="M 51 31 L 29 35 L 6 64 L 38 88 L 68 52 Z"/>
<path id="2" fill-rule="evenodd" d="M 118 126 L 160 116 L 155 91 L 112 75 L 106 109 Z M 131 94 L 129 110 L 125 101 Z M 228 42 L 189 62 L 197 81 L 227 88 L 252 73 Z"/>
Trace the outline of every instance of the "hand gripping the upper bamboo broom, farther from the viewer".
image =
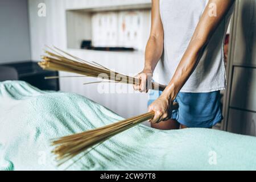
<path id="1" fill-rule="evenodd" d="M 148 89 L 151 88 L 152 83 L 152 70 L 144 68 L 135 78 L 138 78 L 139 83 L 133 85 L 134 90 L 139 90 L 139 92 L 148 92 Z M 150 86 L 148 86 L 150 85 Z"/>

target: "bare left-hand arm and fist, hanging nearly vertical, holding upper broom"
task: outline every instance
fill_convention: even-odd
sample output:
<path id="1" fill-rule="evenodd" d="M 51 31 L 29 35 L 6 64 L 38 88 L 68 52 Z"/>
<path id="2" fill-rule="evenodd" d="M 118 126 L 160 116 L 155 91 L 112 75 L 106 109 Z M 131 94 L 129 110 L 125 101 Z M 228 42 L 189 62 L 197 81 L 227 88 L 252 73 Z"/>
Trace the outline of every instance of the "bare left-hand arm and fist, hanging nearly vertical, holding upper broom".
<path id="1" fill-rule="evenodd" d="M 160 18 L 159 0 L 152 0 L 151 30 L 145 51 L 144 69 L 136 77 L 141 80 L 140 84 L 134 85 L 135 90 L 147 92 L 146 82 L 152 76 L 156 64 L 163 53 L 163 25 Z"/>

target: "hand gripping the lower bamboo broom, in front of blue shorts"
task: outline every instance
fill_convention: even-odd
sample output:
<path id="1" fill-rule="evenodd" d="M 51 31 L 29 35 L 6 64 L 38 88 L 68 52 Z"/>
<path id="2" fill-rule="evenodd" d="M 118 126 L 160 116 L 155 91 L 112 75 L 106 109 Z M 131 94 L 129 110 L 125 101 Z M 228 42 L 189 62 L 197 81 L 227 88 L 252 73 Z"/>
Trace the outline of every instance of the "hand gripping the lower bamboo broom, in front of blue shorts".
<path id="1" fill-rule="evenodd" d="M 172 102 L 168 96 L 165 96 L 164 93 L 155 100 L 150 106 L 148 106 L 148 111 L 154 111 L 155 115 L 154 118 L 150 120 L 152 123 L 159 123 L 161 121 L 166 121 L 167 119 L 170 119 L 171 115 L 171 109 L 172 108 Z"/>

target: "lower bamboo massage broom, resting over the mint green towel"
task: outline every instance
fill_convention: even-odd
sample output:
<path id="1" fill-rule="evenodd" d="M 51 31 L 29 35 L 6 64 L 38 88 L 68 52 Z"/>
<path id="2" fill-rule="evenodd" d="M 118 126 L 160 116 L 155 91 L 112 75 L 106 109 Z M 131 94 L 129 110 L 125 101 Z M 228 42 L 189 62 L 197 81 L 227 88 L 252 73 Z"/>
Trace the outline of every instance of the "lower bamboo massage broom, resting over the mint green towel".
<path id="1" fill-rule="evenodd" d="M 178 107 L 179 105 L 174 103 L 172 109 L 175 110 Z M 52 152 L 56 155 L 56 160 L 59 162 L 58 165 L 61 165 L 81 152 L 96 146 L 96 144 L 102 143 L 114 135 L 128 130 L 139 123 L 147 121 L 148 119 L 152 119 L 153 117 L 154 111 L 151 111 L 138 115 L 137 117 L 125 119 L 123 121 L 99 127 L 94 130 L 84 131 L 79 134 L 54 139 L 52 140 L 52 146 L 55 146 L 55 148 Z"/>

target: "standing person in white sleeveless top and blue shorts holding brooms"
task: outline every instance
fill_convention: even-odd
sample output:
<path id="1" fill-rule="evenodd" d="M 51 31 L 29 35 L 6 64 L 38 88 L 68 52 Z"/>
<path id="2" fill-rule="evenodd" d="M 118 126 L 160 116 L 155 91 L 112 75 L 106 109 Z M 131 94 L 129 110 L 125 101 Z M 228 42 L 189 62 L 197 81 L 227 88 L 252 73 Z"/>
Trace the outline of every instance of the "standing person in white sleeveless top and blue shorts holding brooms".
<path id="1" fill-rule="evenodd" d="M 140 84 L 134 85 L 135 90 L 147 92 L 154 70 L 153 79 L 167 85 L 163 92 L 150 90 L 152 127 L 211 128 L 222 120 L 223 47 L 234 2 L 152 0 L 144 69 L 136 76 Z M 179 110 L 171 110 L 173 102 L 179 102 Z"/>

